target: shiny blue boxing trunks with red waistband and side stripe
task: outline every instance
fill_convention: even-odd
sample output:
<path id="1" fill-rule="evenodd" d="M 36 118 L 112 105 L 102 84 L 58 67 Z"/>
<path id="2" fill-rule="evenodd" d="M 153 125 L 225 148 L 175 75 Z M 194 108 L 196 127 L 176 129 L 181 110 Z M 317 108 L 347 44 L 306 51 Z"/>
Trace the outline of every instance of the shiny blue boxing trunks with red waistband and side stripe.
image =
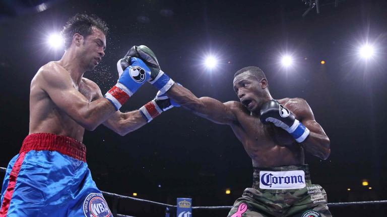
<path id="1" fill-rule="evenodd" d="M 66 136 L 28 135 L 4 178 L 0 217 L 113 216 L 93 181 L 86 147 Z"/>

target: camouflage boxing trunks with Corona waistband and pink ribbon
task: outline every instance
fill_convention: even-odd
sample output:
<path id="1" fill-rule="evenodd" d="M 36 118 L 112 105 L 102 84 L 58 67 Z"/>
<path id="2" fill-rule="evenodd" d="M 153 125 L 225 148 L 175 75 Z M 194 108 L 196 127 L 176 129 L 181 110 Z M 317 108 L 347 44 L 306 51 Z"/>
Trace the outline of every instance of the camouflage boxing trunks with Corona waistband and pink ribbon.
<path id="1" fill-rule="evenodd" d="M 311 184 L 308 165 L 255 168 L 228 217 L 329 217 L 327 193 Z"/>

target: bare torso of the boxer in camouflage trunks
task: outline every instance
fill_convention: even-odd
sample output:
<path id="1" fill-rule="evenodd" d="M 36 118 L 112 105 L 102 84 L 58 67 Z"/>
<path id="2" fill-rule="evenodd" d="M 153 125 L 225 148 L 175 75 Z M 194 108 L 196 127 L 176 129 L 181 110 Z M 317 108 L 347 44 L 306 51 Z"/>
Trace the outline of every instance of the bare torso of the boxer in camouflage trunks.
<path id="1" fill-rule="evenodd" d="M 291 112 L 301 99 L 279 99 Z M 302 147 L 284 130 L 273 124 L 264 125 L 259 117 L 253 116 L 240 102 L 228 103 L 237 122 L 230 126 L 255 167 L 297 165 L 304 163 Z M 293 109 L 294 110 L 294 109 Z M 300 116 L 296 115 L 300 120 Z M 301 120 L 300 120 L 301 121 Z"/>

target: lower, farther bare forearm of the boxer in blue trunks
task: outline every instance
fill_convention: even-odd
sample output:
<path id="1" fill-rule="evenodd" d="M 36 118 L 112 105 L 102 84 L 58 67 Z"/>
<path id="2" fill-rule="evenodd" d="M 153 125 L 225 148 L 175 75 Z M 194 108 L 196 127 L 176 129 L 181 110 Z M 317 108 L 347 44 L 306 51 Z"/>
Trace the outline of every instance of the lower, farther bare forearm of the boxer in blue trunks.
<path id="1" fill-rule="evenodd" d="M 121 136 L 135 131 L 147 124 L 139 110 L 121 113 L 117 111 L 103 125 Z"/>

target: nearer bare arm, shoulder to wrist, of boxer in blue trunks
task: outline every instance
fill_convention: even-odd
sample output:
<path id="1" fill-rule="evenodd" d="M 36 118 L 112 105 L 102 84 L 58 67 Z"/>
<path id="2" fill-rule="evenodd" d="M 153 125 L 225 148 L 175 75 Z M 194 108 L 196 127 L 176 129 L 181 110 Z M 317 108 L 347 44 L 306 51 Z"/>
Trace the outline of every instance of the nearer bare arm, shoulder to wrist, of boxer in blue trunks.
<path id="1" fill-rule="evenodd" d="M 87 130 L 94 130 L 115 112 L 106 98 L 89 102 L 73 86 L 69 73 L 54 64 L 39 69 L 31 82 L 33 88 L 45 91 L 61 111 Z"/>

